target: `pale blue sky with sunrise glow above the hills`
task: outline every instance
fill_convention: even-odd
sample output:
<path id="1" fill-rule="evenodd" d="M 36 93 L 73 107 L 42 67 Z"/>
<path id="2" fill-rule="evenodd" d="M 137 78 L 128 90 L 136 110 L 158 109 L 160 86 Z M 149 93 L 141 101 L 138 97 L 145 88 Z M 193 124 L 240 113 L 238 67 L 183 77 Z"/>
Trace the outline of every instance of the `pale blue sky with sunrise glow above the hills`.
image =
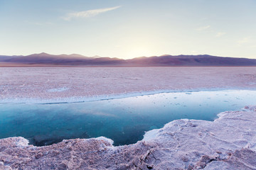
<path id="1" fill-rule="evenodd" d="M 256 59 L 255 0 L 0 0 L 0 55 Z"/>

